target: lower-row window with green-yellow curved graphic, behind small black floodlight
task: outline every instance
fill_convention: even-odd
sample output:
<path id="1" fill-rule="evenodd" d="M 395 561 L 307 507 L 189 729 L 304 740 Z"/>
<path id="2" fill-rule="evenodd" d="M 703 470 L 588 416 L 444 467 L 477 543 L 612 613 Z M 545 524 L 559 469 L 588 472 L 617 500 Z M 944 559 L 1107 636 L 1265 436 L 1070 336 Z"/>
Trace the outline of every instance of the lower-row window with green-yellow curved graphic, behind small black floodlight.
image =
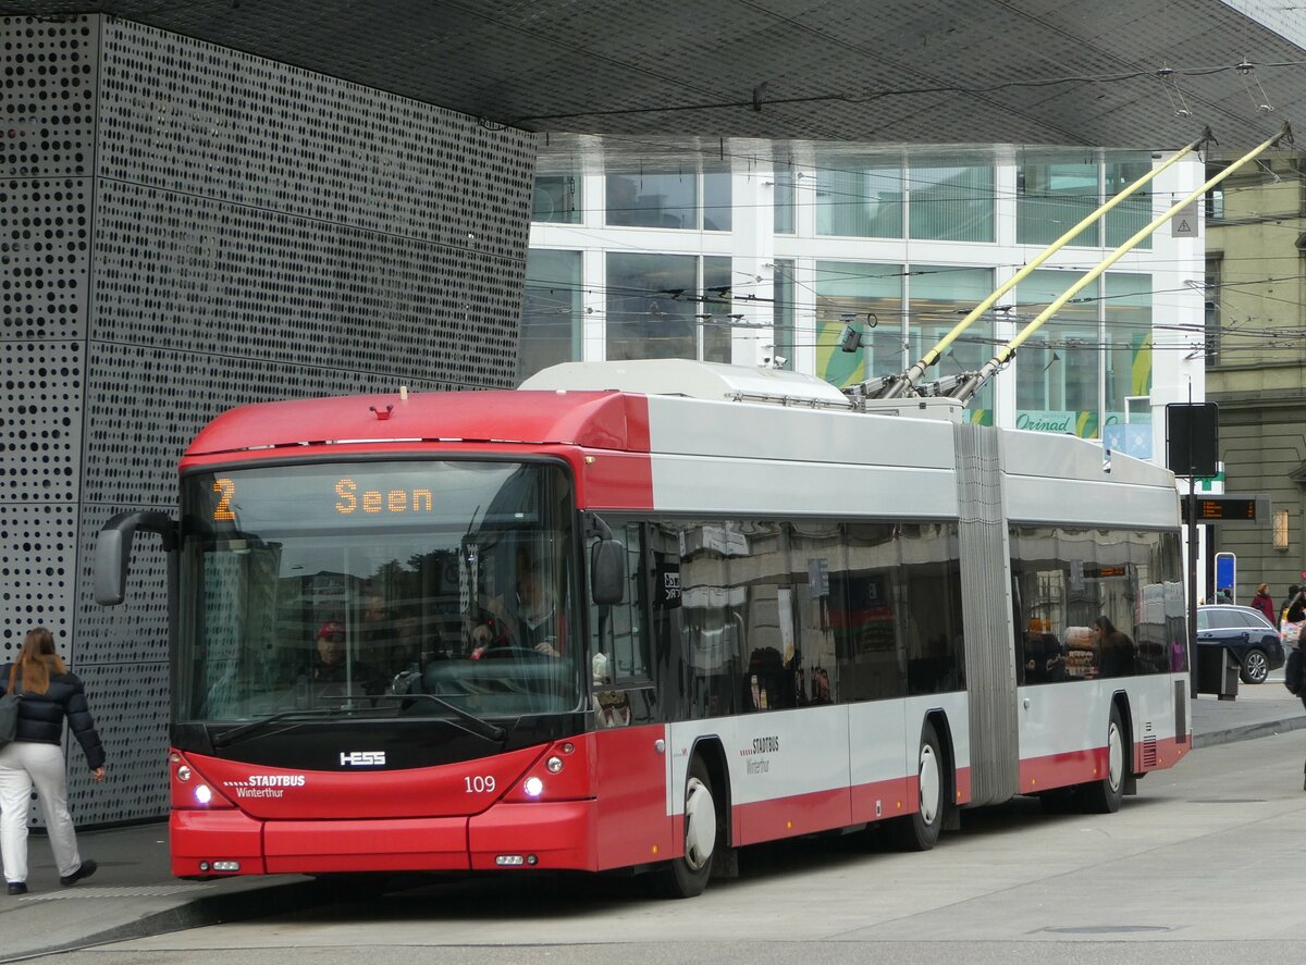
<path id="1" fill-rule="evenodd" d="M 857 261 L 816 262 L 816 375 L 840 388 L 904 372 L 902 266 Z M 857 351 L 840 349 L 840 333 L 862 333 Z"/>

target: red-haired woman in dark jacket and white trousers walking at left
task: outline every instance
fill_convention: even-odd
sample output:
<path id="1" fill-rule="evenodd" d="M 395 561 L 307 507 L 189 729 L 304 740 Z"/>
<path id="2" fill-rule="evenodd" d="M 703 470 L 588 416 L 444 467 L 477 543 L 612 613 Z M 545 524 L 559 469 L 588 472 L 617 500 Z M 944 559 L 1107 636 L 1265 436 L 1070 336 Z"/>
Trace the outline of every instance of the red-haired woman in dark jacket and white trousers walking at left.
<path id="1" fill-rule="evenodd" d="M 0 859 L 9 894 L 27 892 L 27 808 L 33 786 L 46 814 L 59 884 L 77 884 L 95 874 L 95 862 L 78 854 L 68 814 L 64 718 L 95 781 L 104 780 L 104 748 L 86 706 L 86 693 L 81 680 L 68 672 L 55 653 L 55 637 L 44 627 L 27 632 L 18 659 L 0 667 L 0 683 L 7 692 L 21 697 L 14 740 L 0 748 Z"/>

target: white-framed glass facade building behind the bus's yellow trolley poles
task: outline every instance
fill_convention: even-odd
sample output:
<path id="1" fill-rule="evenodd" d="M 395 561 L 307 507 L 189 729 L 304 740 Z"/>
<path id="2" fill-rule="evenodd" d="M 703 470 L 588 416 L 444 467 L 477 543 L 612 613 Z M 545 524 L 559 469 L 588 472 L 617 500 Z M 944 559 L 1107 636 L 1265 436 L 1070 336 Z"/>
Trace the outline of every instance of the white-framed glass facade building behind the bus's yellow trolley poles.
<path id="1" fill-rule="evenodd" d="M 1153 163 L 1002 146 L 546 149 L 518 377 L 560 360 L 637 358 L 774 364 L 840 388 L 901 373 Z M 978 370 L 1202 180 L 1198 162 L 1171 171 L 1021 278 L 923 381 Z M 1202 293 L 1186 279 L 1202 268 L 1200 251 L 1168 227 L 1145 235 L 1028 336 L 966 418 L 1155 457 L 1157 379 L 1200 379 L 1174 333 L 1200 340 Z M 853 351 L 849 326 L 861 334 Z"/>

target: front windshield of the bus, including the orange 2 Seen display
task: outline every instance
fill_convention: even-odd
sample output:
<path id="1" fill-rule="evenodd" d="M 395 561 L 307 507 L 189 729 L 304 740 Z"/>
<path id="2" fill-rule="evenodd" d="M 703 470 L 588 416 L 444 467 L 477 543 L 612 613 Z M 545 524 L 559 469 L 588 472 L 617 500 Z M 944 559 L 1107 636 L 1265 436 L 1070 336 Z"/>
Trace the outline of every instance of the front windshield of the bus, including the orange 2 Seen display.
<path id="1" fill-rule="evenodd" d="M 573 517 L 551 461 L 187 475 L 178 720 L 576 709 Z"/>

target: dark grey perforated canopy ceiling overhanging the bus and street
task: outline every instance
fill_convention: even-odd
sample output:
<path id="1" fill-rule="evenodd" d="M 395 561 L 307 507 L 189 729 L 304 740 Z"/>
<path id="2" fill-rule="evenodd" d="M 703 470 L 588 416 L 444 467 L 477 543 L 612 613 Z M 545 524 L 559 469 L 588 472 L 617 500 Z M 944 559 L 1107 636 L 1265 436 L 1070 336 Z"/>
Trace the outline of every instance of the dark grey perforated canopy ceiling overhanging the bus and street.
<path id="1" fill-rule="evenodd" d="M 1298 116 L 1306 17 L 1271 29 L 1249 5 L 4 0 L 0 13 L 104 13 L 537 132 L 1157 150 L 1204 127 L 1252 145 Z"/>

